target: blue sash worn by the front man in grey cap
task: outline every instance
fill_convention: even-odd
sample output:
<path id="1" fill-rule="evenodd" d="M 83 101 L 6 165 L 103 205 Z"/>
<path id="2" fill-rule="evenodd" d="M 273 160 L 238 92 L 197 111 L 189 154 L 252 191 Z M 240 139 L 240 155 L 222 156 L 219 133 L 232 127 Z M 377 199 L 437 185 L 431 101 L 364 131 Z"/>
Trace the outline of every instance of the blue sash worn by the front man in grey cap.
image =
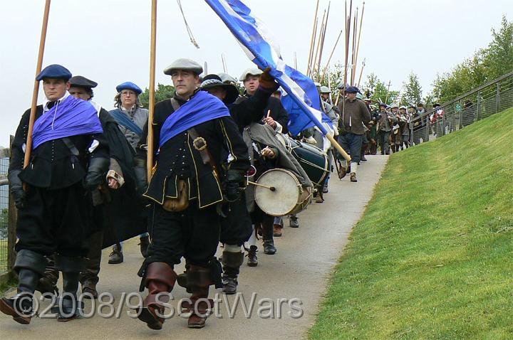
<path id="1" fill-rule="evenodd" d="M 198 91 L 192 98 L 173 112 L 160 129 L 160 147 L 168 140 L 191 127 L 209 120 L 229 117 L 228 108 L 217 97 L 206 91 Z"/>

